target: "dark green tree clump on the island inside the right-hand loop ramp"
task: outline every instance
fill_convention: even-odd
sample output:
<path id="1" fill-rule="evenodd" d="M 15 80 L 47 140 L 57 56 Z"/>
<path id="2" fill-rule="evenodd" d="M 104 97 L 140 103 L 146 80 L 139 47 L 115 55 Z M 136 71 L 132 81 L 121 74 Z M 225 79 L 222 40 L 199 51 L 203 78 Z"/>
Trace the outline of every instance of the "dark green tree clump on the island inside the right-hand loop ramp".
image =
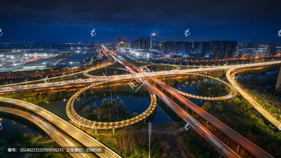
<path id="1" fill-rule="evenodd" d="M 226 85 L 225 84 L 210 84 L 209 82 L 205 82 L 205 86 L 204 83 L 201 84 L 197 84 L 196 88 L 197 91 L 199 91 L 200 93 L 204 94 L 204 96 L 206 97 L 218 97 L 218 96 L 226 96 L 230 93 L 230 90 L 226 89 Z"/>

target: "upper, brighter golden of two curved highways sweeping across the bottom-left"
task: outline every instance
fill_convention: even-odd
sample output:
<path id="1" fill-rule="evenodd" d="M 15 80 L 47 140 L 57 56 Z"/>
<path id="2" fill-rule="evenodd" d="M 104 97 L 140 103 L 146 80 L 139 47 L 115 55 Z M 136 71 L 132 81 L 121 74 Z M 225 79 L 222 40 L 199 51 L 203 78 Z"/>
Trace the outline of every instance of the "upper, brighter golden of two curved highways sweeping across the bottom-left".
<path id="1" fill-rule="evenodd" d="M 50 111 L 47 111 L 46 109 L 43 109 L 37 105 L 20 101 L 16 99 L 9 99 L 9 98 L 0 98 L 0 102 L 6 102 L 14 105 L 18 105 L 21 107 L 24 107 L 28 110 L 33 111 L 34 113 L 44 117 L 46 120 L 52 122 L 55 126 L 61 128 L 63 131 L 65 131 L 68 135 L 75 138 L 77 141 L 79 141 L 84 146 L 87 146 L 88 148 L 91 148 L 93 146 L 104 146 L 105 147 L 105 153 L 96 153 L 96 155 L 100 157 L 112 157 L 112 158 L 121 158 L 116 152 L 112 151 L 107 146 L 103 145 L 93 137 L 89 136 L 85 132 L 81 131 L 79 128 L 71 125 L 67 121 L 62 120 L 62 118 L 56 116 L 55 114 L 51 113 Z"/>

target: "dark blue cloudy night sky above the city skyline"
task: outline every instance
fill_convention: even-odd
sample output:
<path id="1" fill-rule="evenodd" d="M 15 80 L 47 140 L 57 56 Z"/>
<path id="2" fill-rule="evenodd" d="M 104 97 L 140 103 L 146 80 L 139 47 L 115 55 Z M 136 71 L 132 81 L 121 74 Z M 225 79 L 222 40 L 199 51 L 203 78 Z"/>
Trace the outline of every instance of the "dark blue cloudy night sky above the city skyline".
<path id="1" fill-rule="evenodd" d="M 280 1 L 2 0 L 0 42 L 158 41 L 275 42 Z M 91 37 L 95 28 L 96 35 Z M 185 37 L 188 28 L 190 36 Z"/>

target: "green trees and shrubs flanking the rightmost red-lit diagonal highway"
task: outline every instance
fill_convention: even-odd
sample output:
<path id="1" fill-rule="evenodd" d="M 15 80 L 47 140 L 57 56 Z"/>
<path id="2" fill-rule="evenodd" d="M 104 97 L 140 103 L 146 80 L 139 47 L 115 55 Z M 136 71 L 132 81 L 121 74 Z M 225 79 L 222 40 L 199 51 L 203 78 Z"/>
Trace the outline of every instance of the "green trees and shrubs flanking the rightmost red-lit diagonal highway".
<path id="1" fill-rule="evenodd" d="M 234 97 L 234 99 L 225 102 L 216 101 L 212 103 L 207 101 L 205 104 L 204 106 L 206 107 L 211 105 L 211 107 L 218 109 L 219 114 L 213 114 L 218 116 L 218 119 L 225 125 L 234 129 L 247 139 L 252 138 L 251 141 L 253 143 L 272 156 L 278 157 L 281 155 L 281 151 L 276 150 L 277 146 L 281 146 L 281 132 L 275 133 L 270 129 L 270 126 L 266 126 L 261 115 L 252 108 L 248 101 L 239 100 L 237 97 Z M 209 110 L 207 109 L 207 111 Z M 200 120 L 203 125 L 206 123 L 199 116 L 195 116 L 195 119 Z M 219 129 L 216 129 L 214 126 L 208 126 L 208 129 L 218 136 L 219 139 L 223 140 L 222 136 L 220 136 L 221 134 L 218 133 L 220 132 Z M 235 145 L 229 146 L 237 149 Z M 247 157 L 246 152 L 243 151 L 241 156 Z"/>

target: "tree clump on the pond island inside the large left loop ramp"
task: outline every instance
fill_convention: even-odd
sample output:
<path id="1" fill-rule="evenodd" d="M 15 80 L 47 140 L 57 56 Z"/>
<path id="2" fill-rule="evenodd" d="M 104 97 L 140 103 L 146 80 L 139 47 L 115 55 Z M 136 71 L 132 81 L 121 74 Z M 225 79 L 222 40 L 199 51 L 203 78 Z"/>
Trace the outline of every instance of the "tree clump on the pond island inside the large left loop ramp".
<path id="1" fill-rule="evenodd" d="M 96 107 L 96 104 L 92 105 Z M 83 113 L 86 115 L 86 119 L 98 122 L 115 122 L 115 121 L 123 121 L 127 119 L 131 119 L 133 116 L 130 115 L 130 111 L 127 111 L 123 100 L 119 101 L 119 105 L 117 105 L 117 101 L 115 98 L 112 99 L 112 104 L 110 98 L 103 99 L 102 105 L 94 109 L 91 113 L 88 113 L 91 109 L 90 105 L 87 105 Z"/>

